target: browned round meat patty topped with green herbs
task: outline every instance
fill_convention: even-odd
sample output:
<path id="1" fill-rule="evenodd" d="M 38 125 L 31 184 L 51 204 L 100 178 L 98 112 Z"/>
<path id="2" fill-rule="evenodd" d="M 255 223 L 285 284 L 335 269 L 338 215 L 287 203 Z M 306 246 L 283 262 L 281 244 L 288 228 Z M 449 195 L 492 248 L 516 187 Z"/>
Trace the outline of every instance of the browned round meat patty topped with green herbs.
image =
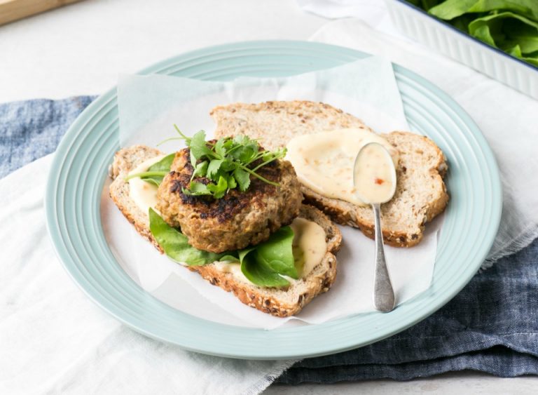
<path id="1" fill-rule="evenodd" d="M 223 253 L 261 243 L 289 225 L 303 201 L 295 170 L 288 161 L 274 161 L 257 170 L 278 187 L 251 176 L 246 192 L 231 189 L 221 199 L 181 192 L 188 188 L 193 174 L 188 149 L 177 152 L 171 170 L 158 189 L 157 208 L 163 219 L 181 228 L 188 243 L 199 250 Z M 208 182 L 205 178 L 195 180 Z"/>

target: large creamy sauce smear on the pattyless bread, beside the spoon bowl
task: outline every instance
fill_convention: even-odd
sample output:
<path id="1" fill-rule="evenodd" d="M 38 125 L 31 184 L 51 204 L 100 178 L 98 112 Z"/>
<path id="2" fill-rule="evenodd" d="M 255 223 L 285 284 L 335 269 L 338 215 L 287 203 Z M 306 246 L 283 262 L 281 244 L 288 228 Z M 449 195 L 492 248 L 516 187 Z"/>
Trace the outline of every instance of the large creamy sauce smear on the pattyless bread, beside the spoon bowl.
<path id="1" fill-rule="evenodd" d="M 360 149 L 369 142 L 385 147 L 397 166 L 397 149 L 380 135 L 358 128 L 297 136 L 287 145 L 286 159 L 303 185 L 323 196 L 366 206 L 354 189 L 353 168 Z"/>

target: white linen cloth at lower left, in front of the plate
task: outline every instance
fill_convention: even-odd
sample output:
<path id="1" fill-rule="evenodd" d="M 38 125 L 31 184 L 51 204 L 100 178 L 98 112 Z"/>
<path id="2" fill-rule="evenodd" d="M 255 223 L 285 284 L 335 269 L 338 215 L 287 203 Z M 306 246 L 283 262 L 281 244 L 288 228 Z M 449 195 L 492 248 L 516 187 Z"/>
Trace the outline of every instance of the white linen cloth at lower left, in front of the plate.
<path id="1" fill-rule="evenodd" d="M 0 180 L 0 394 L 258 394 L 291 366 L 187 352 L 95 306 L 47 234 L 51 159 Z"/>

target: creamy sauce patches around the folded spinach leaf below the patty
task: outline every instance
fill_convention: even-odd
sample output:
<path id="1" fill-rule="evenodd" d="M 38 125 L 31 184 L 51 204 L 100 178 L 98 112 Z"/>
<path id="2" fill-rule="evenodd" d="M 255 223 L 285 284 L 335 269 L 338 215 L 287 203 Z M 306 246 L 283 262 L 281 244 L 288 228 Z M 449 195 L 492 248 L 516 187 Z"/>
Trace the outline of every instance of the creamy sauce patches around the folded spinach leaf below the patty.
<path id="1" fill-rule="evenodd" d="M 325 253 L 327 252 L 327 243 L 325 241 L 325 231 L 317 223 L 305 220 L 304 218 L 296 218 L 290 225 L 294 231 L 294 241 L 292 248 L 294 251 L 295 265 L 298 269 L 300 279 L 304 279 L 319 262 L 322 262 Z M 216 269 L 221 272 L 231 273 L 237 279 L 251 283 L 243 272 L 239 262 L 215 262 Z M 296 279 L 280 274 L 290 283 L 295 283 Z"/>

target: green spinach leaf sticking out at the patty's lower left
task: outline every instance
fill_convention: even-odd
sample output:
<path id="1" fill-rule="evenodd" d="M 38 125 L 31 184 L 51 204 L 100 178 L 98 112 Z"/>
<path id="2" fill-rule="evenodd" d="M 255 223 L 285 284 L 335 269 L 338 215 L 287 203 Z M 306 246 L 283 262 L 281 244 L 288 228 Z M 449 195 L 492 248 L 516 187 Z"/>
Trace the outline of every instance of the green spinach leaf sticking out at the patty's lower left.
<path id="1" fill-rule="evenodd" d="M 153 208 L 149 209 L 149 230 L 165 254 L 176 262 L 189 266 L 200 266 L 215 262 L 223 254 L 208 253 L 190 246 L 187 237 L 168 225 Z"/>

